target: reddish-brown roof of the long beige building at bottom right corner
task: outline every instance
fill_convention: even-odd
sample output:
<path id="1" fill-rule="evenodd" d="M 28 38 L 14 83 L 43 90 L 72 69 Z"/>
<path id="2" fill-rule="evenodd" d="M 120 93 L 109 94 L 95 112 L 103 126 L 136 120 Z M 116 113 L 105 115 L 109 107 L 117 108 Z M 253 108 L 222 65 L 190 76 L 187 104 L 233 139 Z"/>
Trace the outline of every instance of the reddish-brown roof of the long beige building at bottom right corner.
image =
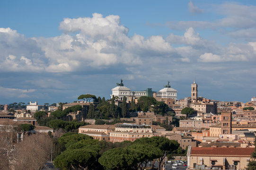
<path id="1" fill-rule="evenodd" d="M 233 147 L 192 147 L 191 155 L 199 156 L 248 156 L 254 152 L 254 148 L 233 148 Z"/>

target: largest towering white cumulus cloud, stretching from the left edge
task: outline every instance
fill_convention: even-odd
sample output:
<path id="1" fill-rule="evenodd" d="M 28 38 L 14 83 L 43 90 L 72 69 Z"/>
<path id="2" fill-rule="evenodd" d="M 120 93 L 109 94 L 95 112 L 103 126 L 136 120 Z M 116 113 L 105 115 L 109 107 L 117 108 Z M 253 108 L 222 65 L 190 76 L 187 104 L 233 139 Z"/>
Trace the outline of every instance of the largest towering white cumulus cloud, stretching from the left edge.
<path id="1" fill-rule="evenodd" d="M 64 18 L 63 34 L 26 38 L 10 28 L 1 28 L 1 68 L 9 71 L 72 72 L 117 64 L 141 65 L 147 57 L 172 57 L 172 45 L 162 36 L 127 35 L 119 16 L 94 13 L 92 17 Z M 75 33 L 75 34 L 74 34 Z M 25 47 L 25 49 L 24 49 Z M 176 57 L 176 56 L 174 56 Z"/>

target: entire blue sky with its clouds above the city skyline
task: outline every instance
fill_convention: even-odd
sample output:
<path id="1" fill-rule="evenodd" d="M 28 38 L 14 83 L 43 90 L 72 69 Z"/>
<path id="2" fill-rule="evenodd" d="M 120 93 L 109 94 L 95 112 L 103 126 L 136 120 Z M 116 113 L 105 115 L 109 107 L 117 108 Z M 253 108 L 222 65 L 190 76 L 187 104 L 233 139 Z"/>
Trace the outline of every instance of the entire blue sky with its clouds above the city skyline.
<path id="1" fill-rule="evenodd" d="M 256 96 L 256 2 L 0 1 L 0 103 L 109 98 L 170 81 L 178 99 Z"/>

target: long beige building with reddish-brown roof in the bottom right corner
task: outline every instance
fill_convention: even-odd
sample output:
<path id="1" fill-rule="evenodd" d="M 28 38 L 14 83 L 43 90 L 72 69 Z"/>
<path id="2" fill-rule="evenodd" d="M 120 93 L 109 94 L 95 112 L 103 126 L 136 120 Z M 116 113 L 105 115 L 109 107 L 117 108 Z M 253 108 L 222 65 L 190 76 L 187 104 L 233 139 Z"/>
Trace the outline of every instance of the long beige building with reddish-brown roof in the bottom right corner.
<path id="1" fill-rule="evenodd" d="M 245 170 L 254 148 L 188 147 L 187 170 Z"/>

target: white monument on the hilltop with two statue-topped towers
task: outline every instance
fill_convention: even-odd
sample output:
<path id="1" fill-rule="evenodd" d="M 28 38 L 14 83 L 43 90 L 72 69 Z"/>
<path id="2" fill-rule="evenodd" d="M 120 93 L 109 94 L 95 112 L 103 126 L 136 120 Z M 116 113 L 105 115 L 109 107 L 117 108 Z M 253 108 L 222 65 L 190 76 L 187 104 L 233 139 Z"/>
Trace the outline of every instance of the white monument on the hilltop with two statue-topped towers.
<path id="1" fill-rule="evenodd" d="M 116 83 L 116 87 L 112 89 L 112 94 L 110 94 L 111 98 L 112 96 L 118 96 L 120 100 L 123 100 L 124 96 L 135 96 L 135 97 L 141 97 L 141 96 L 149 96 L 152 97 L 153 93 L 156 94 L 156 97 L 160 98 L 171 98 L 177 100 L 177 90 L 171 88 L 169 85 L 164 85 L 165 88 L 159 90 L 159 92 L 152 92 L 151 88 L 147 88 L 145 91 L 131 91 L 128 87 L 125 87 L 123 84 L 123 80 L 121 80 L 121 83 Z"/>

